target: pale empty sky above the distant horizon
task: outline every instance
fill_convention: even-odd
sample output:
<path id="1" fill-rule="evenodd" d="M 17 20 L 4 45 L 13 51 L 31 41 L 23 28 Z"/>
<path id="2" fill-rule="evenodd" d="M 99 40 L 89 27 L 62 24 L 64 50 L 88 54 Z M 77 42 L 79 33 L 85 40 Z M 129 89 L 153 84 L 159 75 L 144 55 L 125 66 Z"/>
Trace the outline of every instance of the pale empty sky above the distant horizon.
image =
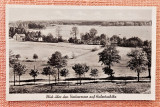
<path id="1" fill-rule="evenodd" d="M 88 20 L 88 21 L 143 21 L 152 19 L 151 9 L 62 9 L 9 8 L 9 21 L 33 20 Z"/>

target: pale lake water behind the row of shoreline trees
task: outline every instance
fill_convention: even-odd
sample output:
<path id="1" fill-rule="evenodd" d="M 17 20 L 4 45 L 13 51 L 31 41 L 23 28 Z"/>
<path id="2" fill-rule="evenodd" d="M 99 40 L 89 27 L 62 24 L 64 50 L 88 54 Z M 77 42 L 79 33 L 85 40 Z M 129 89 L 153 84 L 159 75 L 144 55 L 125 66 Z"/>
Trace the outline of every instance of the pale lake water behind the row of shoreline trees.
<path id="1" fill-rule="evenodd" d="M 61 29 L 61 35 L 64 39 L 68 39 L 69 37 L 72 37 L 70 34 L 72 27 L 74 25 L 58 25 Z M 47 35 L 48 33 L 52 33 L 53 36 L 56 36 L 56 27 L 47 27 L 46 29 L 40 30 L 42 34 Z M 102 33 L 106 34 L 108 37 L 111 37 L 113 35 L 119 35 L 120 37 L 126 37 L 130 38 L 133 36 L 139 37 L 142 40 L 151 40 L 152 37 L 152 26 L 80 26 L 76 25 L 78 27 L 79 33 L 77 35 L 78 38 L 80 38 L 80 34 L 85 34 L 86 32 L 89 32 L 91 28 L 95 28 L 98 33 L 97 35 L 100 35 Z M 31 29 L 30 29 L 31 30 Z"/>

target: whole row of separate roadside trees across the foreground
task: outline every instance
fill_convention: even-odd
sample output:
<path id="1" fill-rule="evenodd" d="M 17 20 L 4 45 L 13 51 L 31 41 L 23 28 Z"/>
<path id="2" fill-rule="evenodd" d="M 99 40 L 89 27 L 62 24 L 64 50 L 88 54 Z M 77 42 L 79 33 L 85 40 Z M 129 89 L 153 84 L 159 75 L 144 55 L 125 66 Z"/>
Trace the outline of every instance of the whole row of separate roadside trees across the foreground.
<path id="1" fill-rule="evenodd" d="M 114 63 L 119 63 L 121 60 L 121 56 L 119 55 L 119 52 L 116 50 L 115 46 L 108 46 L 105 47 L 105 49 L 100 52 L 99 54 L 99 62 L 104 65 L 102 68 L 103 72 L 107 75 L 109 75 L 110 79 L 112 80 L 114 78 L 114 71 L 111 68 Z M 130 53 L 127 54 L 127 56 L 130 58 L 128 61 L 127 67 L 129 67 L 131 70 L 134 70 L 137 72 L 137 77 L 139 81 L 140 73 L 145 71 L 148 68 L 148 77 L 151 78 L 151 47 L 144 47 L 132 50 Z M 12 56 L 10 55 L 12 58 Z M 38 58 L 36 54 L 33 55 L 33 59 Z M 12 58 L 14 59 L 14 58 Z M 20 76 L 23 75 L 27 69 L 25 65 L 22 65 L 20 63 L 13 63 L 14 61 L 10 59 L 10 64 L 13 65 L 13 71 L 14 71 L 14 84 L 15 84 L 15 75 Z M 69 74 L 69 70 L 65 67 L 67 66 L 67 58 L 66 56 L 62 56 L 60 52 L 55 52 L 52 54 L 52 56 L 48 60 L 48 65 L 43 68 L 43 72 L 41 74 L 49 76 L 49 83 L 50 83 L 50 76 L 53 76 L 55 78 L 55 83 L 57 80 L 59 81 L 60 75 L 67 77 Z M 63 69 L 62 69 L 63 68 Z M 72 69 L 75 71 L 75 74 L 78 76 L 80 84 L 81 84 L 81 78 L 82 75 L 85 75 L 90 69 L 89 66 L 86 64 L 75 64 L 72 66 Z M 37 69 L 31 69 L 29 73 L 33 78 L 35 82 L 35 78 L 38 76 L 39 72 Z M 98 70 L 96 68 L 91 69 L 91 76 L 96 77 L 98 76 Z"/>

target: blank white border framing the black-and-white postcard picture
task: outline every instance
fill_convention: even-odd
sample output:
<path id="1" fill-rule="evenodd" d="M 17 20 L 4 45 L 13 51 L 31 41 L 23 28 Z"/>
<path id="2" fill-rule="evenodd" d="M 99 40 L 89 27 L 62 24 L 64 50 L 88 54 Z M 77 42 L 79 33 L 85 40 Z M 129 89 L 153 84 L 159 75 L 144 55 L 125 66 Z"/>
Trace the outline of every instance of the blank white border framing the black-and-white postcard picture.
<path id="1" fill-rule="evenodd" d="M 151 9 L 152 10 L 152 67 L 151 67 L 151 94 L 106 94 L 115 95 L 116 98 L 51 98 L 46 95 L 86 95 L 80 93 L 69 94 L 9 94 L 9 8 L 52 8 L 52 9 Z M 6 5 L 6 100 L 155 100 L 155 76 L 156 76 L 156 7 L 129 7 L 129 6 L 55 6 L 55 5 Z M 87 95 L 104 95 L 104 93 L 88 93 Z"/>

